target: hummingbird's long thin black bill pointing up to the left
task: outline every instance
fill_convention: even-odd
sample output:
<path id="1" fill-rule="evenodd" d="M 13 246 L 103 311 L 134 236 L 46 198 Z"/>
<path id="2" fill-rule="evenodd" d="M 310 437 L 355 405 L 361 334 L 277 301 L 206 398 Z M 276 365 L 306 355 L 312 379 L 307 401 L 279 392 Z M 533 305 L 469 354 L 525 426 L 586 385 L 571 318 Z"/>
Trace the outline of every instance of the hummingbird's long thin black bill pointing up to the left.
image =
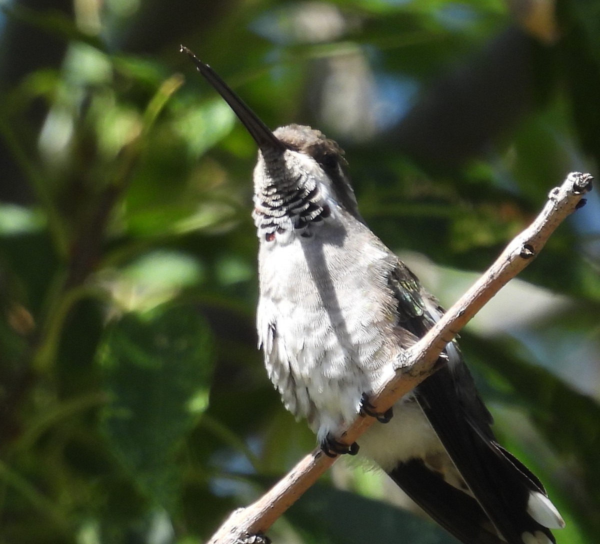
<path id="1" fill-rule="evenodd" d="M 196 68 L 202 74 L 206 80 L 217 89 L 224 100 L 229 104 L 235 115 L 238 116 L 239 120 L 247 128 L 250 135 L 254 138 L 261 151 L 284 151 L 286 146 L 277 139 L 277 137 L 271 132 L 271 129 L 267 127 L 259 116 L 256 115 L 246 104 L 242 101 L 235 92 L 225 83 L 218 74 L 209 67 L 208 64 L 200 61 L 194 53 L 192 53 L 187 47 L 179 46 L 181 53 L 187 53 L 192 59 Z"/>

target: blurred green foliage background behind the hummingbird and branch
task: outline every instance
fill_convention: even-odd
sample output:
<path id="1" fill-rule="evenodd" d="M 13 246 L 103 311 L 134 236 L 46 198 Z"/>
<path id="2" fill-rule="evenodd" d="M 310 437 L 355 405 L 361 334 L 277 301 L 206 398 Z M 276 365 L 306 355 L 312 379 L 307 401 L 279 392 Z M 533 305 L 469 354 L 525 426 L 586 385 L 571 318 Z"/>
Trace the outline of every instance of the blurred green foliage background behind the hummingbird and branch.
<path id="1" fill-rule="evenodd" d="M 202 542 L 314 446 L 256 350 L 254 143 L 346 149 L 448 305 L 600 158 L 600 2 L 1 2 L 0 542 Z M 600 541 L 600 199 L 462 335 L 503 443 Z M 516 286 L 516 287 L 515 287 Z M 277 542 L 450 543 L 343 463 Z"/>

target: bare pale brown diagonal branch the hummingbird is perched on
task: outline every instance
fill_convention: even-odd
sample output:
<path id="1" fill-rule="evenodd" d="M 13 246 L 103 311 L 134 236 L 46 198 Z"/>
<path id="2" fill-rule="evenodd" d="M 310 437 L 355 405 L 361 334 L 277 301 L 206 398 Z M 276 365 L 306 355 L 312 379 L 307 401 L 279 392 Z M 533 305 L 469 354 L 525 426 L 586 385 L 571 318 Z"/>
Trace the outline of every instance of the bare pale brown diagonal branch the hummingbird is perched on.
<path id="1" fill-rule="evenodd" d="M 575 209 L 583 206 L 583 195 L 592 189 L 592 179 L 589 174 L 572 172 L 561 187 L 550 191 L 548 202 L 531 226 L 506 247 L 496 262 L 427 335 L 395 363 L 394 376 L 370 399 L 374 410 L 382 413 L 434 371 L 446 344 L 503 285 L 532 262 L 556 227 Z M 374 421 L 373 417 L 357 417 L 344 432 L 341 442 L 352 444 Z M 235 510 L 209 544 L 256 542 L 256 535 L 265 533 L 335 460 L 324 455 L 319 448 L 315 449 L 254 504 Z"/>

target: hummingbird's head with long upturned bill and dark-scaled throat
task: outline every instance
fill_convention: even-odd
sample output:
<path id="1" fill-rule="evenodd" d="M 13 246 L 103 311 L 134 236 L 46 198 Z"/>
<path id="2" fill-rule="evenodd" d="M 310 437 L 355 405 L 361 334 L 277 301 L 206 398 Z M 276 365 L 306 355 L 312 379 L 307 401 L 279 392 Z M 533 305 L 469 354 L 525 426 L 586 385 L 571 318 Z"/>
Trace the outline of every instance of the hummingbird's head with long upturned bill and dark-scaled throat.
<path id="1" fill-rule="evenodd" d="M 338 211 L 362 221 L 344 152 L 334 140 L 305 125 L 271 131 L 211 67 L 186 47 L 182 51 L 229 104 L 259 147 L 253 217 L 260 238 L 272 241 L 277 233 L 290 230 L 310 236 L 311 223 L 320 223 Z"/>

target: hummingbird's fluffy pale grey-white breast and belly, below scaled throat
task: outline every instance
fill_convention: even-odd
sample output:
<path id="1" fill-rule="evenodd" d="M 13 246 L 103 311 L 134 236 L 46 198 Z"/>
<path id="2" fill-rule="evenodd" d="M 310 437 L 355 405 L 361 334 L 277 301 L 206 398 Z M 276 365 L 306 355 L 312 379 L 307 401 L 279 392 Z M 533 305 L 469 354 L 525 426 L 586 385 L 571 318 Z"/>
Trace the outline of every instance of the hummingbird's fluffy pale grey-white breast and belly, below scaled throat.
<path id="1" fill-rule="evenodd" d="M 329 220 L 328 220 L 329 221 Z M 261 243 L 259 343 L 286 408 L 319 439 L 356 417 L 397 354 L 388 276 L 395 257 L 333 217 L 311 238 Z"/>

